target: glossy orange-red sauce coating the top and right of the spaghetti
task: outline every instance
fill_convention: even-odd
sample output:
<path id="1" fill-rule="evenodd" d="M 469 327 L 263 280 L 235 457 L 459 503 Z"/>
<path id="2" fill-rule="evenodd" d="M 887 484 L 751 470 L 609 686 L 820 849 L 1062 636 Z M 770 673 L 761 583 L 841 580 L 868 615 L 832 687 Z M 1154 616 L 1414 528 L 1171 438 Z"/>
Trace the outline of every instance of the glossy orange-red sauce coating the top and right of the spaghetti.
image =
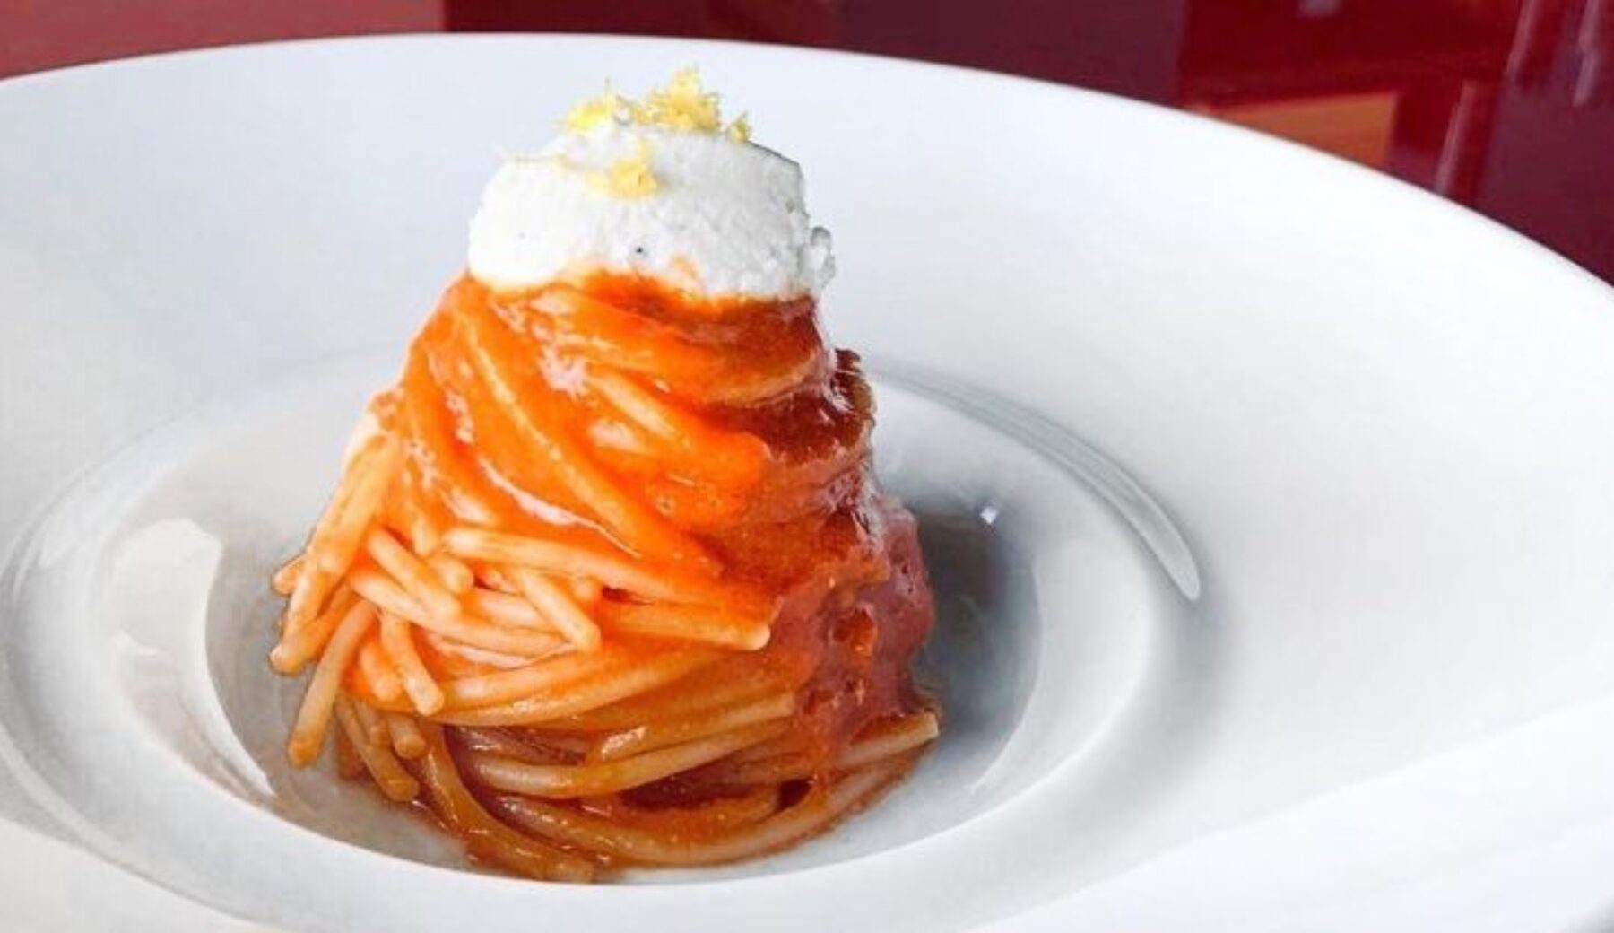
<path id="1" fill-rule="evenodd" d="M 872 473 L 868 384 L 813 312 L 692 303 L 641 279 L 494 294 L 463 278 L 374 408 L 407 441 L 389 523 L 584 542 L 710 579 L 736 605 L 768 600 L 770 642 L 723 663 L 796 689 L 791 733 L 826 772 L 859 731 L 925 705 L 909 660 L 933 605 L 914 520 Z M 444 675 L 495 670 L 423 654 Z M 691 826 L 712 831 L 707 807 L 746 794 L 718 762 L 589 805 L 696 805 Z"/>

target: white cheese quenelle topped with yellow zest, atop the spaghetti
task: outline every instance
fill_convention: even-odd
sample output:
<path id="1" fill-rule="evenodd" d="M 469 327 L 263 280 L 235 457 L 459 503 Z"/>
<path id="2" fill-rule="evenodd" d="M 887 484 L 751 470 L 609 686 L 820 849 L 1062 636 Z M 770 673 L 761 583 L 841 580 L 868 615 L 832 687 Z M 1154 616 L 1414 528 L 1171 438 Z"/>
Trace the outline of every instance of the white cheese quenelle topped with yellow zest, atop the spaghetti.
<path id="1" fill-rule="evenodd" d="M 470 274 L 495 291 L 605 271 L 699 299 L 817 297 L 830 234 L 812 226 L 801 166 L 749 136 L 692 69 L 642 100 L 607 90 L 494 174 Z"/>

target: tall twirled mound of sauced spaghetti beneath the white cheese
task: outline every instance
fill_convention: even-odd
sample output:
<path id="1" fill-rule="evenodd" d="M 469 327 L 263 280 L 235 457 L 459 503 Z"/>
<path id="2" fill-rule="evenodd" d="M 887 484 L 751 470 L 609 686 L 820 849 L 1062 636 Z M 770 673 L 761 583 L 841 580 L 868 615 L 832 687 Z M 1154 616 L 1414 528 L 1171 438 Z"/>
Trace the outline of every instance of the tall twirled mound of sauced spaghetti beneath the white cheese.
<path id="1" fill-rule="evenodd" d="M 534 878 L 792 846 L 938 733 L 912 517 L 810 297 L 457 281 L 370 407 L 271 663 L 287 754 Z"/>

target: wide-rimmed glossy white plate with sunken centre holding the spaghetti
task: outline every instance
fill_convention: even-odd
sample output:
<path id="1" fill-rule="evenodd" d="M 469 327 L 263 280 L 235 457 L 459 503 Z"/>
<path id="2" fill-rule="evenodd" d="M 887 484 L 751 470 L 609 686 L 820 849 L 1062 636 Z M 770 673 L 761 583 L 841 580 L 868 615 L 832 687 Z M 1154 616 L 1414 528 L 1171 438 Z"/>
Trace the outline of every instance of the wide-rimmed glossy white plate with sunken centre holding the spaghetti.
<path id="1" fill-rule="evenodd" d="M 492 149 L 691 61 L 836 232 L 825 312 L 875 362 L 881 470 L 928 517 L 957 715 L 880 809 L 780 859 L 610 888 L 466 872 L 287 773 L 260 581 L 457 271 Z M 163 56 L 6 82 L 0 126 L 19 820 L 299 928 L 1614 907 L 1614 295 L 1493 224 L 1102 95 L 715 44 Z M 137 885 L 71 896 L 131 917 Z"/>

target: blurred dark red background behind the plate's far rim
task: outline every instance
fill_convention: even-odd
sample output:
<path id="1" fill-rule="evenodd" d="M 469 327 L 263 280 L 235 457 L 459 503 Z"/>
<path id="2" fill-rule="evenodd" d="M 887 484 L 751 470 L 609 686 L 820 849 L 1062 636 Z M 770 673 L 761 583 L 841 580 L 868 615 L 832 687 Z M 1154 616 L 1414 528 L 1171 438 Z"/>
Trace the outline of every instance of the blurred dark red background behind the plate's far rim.
<path id="1" fill-rule="evenodd" d="M 433 31 L 788 42 L 1114 90 L 1390 171 L 1614 281 L 1614 0 L 0 0 L 0 76 Z"/>

